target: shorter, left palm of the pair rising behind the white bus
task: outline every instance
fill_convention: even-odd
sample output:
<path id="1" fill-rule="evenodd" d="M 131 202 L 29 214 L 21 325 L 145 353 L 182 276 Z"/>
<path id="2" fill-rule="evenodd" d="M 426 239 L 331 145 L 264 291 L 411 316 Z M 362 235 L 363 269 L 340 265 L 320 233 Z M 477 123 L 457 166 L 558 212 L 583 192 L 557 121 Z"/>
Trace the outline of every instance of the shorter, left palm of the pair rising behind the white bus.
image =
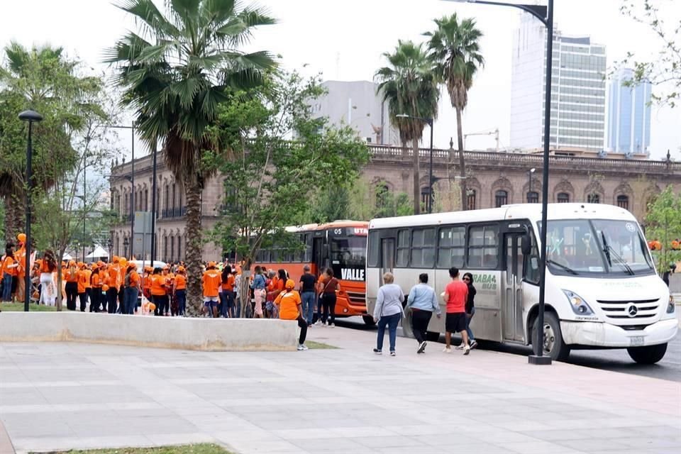
<path id="1" fill-rule="evenodd" d="M 390 122 L 399 131 L 402 148 L 411 140 L 414 158 L 414 214 L 421 212 L 421 184 L 419 172 L 419 141 L 426 123 L 413 117 L 435 118 L 438 114 L 440 92 L 432 71 L 432 62 L 423 45 L 399 40 L 394 52 L 384 53 L 389 66 L 375 74 L 378 92 L 388 103 Z M 409 117 L 400 117 L 400 115 Z"/>

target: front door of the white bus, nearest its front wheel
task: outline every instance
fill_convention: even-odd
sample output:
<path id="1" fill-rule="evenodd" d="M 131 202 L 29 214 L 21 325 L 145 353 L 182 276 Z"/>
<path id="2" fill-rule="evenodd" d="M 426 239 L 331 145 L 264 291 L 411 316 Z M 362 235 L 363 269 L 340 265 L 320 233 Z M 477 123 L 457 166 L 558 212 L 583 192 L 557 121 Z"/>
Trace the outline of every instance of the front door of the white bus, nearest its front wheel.
<path id="1" fill-rule="evenodd" d="M 504 234 L 505 271 L 502 272 L 504 341 L 523 341 L 523 261 L 521 247 L 525 233 Z"/>

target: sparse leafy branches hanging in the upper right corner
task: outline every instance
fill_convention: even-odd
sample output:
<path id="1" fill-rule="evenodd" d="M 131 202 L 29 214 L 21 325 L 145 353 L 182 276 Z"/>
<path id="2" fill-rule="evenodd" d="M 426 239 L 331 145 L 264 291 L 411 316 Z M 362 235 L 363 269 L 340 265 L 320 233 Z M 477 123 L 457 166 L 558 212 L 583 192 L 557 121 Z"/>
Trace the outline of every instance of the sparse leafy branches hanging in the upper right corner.
<path id="1" fill-rule="evenodd" d="M 666 4 L 666 6 L 663 6 Z M 672 4 L 674 6 L 672 7 Z M 658 87 L 653 100 L 661 104 L 676 106 L 681 99 L 681 14 L 677 1 L 664 0 L 623 0 L 621 12 L 634 21 L 650 27 L 658 38 L 658 52 L 649 52 L 639 59 L 628 52 L 624 60 L 616 62 L 618 67 L 633 67 L 633 78 L 628 83 L 635 86 L 650 82 Z M 655 55 L 650 60 L 650 53 Z"/>

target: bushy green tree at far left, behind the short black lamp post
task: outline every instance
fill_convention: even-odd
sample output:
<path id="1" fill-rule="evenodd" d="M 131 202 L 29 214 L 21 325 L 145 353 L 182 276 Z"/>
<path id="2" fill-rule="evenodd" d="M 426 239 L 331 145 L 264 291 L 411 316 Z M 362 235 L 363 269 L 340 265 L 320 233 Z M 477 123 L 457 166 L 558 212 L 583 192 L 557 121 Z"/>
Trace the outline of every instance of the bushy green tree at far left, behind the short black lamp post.
<path id="1" fill-rule="evenodd" d="M 45 120 L 35 125 L 33 187 L 46 191 L 55 175 L 70 170 L 77 156 L 70 147 L 73 131 L 82 128 L 82 113 L 93 109 L 84 96 L 99 90 L 99 79 L 78 74 L 79 62 L 62 48 L 24 48 L 12 42 L 4 48 L 0 67 L 0 196 L 7 208 L 8 239 L 23 229 L 26 195 L 26 124 L 17 115 L 34 109 Z"/>

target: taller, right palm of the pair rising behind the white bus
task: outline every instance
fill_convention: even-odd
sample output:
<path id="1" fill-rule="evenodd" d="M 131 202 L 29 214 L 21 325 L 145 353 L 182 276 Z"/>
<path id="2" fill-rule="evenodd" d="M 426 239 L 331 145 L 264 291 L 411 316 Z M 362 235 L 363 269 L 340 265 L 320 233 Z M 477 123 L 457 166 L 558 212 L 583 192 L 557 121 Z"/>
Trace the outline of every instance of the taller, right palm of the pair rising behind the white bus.
<path id="1" fill-rule="evenodd" d="M 435 19 L 436 31 L 430 36 L 428 50 L 435 66 L 438 81 L 445 84 L 452 107 L 456 109 L 457 138 L 459 149 L 459 175 L 461 186 L 461 209 L 466 209 L 466 169 L 463 156 L 463 129 L 461 115 L 468 104 L 468 90 L 478 67 L 485 65 L 478 41 L 482 32 L 475 27 L 474 19 L 459 21 L 456 13 L 450 17 Z"/>

